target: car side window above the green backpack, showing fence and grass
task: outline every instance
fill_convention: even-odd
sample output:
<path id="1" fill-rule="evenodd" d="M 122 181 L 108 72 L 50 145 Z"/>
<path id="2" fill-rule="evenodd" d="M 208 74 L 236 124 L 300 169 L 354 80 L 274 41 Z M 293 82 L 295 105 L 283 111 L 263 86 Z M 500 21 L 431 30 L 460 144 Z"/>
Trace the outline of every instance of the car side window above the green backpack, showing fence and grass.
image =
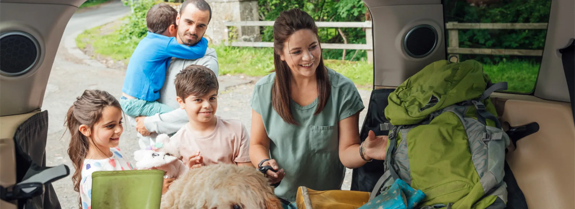
<path id="1" fill-rule="evenodd" d="M 480 61 L 492 82 L 508 82 L 507 92 L 534 91 L 550 0 L 445 0 L 443 5 L 448 58 Z"/>

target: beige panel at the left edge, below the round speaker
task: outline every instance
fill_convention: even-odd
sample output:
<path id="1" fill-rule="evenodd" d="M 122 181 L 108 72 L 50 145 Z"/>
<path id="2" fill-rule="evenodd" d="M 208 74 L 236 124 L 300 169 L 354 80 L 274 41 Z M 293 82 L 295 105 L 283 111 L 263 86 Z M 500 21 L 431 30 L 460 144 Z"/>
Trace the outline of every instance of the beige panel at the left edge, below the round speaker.
<path id="1" fill-rule="evenodd" d="M 22 115 L 0 117 L 0 185 L 2 187 L 16 184 L 14 133 L 20 124 L 39 112 L 40 110 L 36 110 Z M 0 200 L 0 208 L 16 209 L 16 204 Z"/>

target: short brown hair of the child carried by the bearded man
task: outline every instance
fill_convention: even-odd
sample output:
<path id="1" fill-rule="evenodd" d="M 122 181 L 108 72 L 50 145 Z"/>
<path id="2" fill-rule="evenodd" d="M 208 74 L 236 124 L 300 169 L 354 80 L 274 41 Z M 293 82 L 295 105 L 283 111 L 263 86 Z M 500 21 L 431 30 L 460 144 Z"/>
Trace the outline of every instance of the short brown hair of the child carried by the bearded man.
<path id="1" fill-rule="evenodd" d="M 162 34 L 170 27 L 176 25 L 176 17 L 178 11 L 167 3 L 159 3 L 152 6 L 145 16 L 145 22 L 148 26 L 148 31 L 155 34 Z"/>

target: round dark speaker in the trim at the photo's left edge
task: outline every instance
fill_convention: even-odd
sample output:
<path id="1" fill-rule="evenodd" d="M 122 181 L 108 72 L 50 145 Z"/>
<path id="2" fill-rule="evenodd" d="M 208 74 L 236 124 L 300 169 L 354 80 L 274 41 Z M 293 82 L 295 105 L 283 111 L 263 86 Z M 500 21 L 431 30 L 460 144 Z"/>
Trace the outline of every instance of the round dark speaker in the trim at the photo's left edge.
<path id="1" fill-rule="evenodd" d="M 39 58 L 36 39 L 22 31 L 0 35 L 0 71 L 6 76 L 20 76 L 28 72 Z"/>

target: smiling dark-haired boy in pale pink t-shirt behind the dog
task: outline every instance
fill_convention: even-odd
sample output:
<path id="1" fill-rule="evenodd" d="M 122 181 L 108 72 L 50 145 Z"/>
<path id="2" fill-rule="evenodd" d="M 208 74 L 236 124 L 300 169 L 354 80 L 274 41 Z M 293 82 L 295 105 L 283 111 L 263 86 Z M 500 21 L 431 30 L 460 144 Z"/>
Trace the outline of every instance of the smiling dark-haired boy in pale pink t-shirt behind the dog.
<path id="1" fill-rule="evenodd" d="M 179 141 L 183 162 L 190 168 L 217 163 L 254 167 L 246 127 L 239 120 L 214 115 L 219 88 L 216 74 L 205 66 L 189 65 L 174 83 L 180 108 L 190 120 L 171 137 Z"/>

